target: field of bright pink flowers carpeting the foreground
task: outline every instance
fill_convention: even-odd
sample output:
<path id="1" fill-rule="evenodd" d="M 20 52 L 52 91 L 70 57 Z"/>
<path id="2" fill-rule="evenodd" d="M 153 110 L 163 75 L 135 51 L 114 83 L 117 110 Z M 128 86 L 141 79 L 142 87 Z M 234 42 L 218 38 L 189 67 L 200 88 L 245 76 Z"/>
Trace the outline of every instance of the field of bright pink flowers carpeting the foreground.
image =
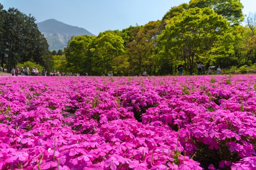
<path id="1" fill-rule="evenodd" d="M 256 75 L 0 77 L 0 169 L 256 169 Z"/>

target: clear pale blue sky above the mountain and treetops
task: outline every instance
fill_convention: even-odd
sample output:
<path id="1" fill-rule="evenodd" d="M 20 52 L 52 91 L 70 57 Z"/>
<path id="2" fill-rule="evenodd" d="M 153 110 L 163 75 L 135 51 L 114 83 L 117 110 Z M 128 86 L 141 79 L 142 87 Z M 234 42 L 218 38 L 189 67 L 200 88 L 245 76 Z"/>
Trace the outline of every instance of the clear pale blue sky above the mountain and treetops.
<path id="1" fill-rule="evenodd" d="M 31 13 L 36 22 L 53 18 L 85 28 L 94 35 L 161 20 L 171 7 L 184 2 L 189 0 L 0 0 L 4 9 L 14 7 L 25 14 Z M 240 2 L 244 14 L 256 12 L 256 0 Z"/>

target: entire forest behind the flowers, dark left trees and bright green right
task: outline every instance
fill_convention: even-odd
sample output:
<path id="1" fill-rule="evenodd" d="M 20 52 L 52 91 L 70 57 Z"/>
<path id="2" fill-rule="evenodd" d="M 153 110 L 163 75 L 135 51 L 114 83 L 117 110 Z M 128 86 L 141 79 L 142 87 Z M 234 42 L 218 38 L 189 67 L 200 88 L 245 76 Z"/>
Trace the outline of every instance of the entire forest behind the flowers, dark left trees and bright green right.
<path id="1" fill-rule="evenodd" d="M 27 61 L 48 70 L 100 76 L 186 75 L 220 65 L 230 69 L 256 63 L 256 14 L 244 15 L 240 0 L 191 0 L 172 7 L 161 20 L 98 36 L 73 36 L 67 48 L 47 50 L 35 18 L 0 5 L 0 65 L 9 70 Z"/>

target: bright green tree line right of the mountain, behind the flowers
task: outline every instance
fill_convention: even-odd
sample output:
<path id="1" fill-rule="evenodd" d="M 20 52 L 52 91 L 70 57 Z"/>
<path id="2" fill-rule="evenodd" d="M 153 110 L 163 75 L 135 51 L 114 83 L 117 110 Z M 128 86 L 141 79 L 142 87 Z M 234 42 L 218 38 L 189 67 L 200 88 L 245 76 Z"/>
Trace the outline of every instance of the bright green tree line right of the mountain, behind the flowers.
<path id="1" fill-rule="evenodd" d="M 242 9 L 240 0 L 191 0 L 144 26 L 73 37 L 63 57 L 68 69 L 90 75 L 167 75 L 180 64 L 193 74 L 199 62 L 205 68 L 253 65 L 256 17 Z"/>

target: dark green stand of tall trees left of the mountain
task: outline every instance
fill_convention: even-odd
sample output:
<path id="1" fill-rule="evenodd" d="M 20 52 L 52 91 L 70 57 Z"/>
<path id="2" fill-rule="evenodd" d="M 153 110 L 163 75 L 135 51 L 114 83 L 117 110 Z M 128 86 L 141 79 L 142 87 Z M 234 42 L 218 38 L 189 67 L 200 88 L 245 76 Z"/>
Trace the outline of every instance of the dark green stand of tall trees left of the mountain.
<path id="1" fill-rule="evenodd" d="M 0 4 L 0 65 L 8 72 L 18 63 L 32 61 L 51 67 L 52 55 L 35 18 L 18 9 L 4 10 Z"/>

